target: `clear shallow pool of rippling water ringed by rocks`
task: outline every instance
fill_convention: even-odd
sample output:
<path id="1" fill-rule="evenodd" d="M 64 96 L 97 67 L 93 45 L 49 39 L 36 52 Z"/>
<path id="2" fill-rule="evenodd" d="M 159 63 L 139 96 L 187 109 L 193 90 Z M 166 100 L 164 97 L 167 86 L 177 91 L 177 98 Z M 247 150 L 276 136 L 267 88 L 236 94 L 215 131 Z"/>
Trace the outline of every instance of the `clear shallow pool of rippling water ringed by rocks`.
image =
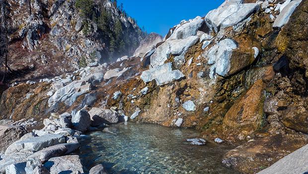
<path id="1" fill-rule="evenodd" d="M 88 169 L 103 164 L 109 174 L 237 174 L 221 164 L 231 147 L 186 142 L 198 137 L 195 130 L 132 122 L 108 129 L 80 140 L 80 159 Z"/>

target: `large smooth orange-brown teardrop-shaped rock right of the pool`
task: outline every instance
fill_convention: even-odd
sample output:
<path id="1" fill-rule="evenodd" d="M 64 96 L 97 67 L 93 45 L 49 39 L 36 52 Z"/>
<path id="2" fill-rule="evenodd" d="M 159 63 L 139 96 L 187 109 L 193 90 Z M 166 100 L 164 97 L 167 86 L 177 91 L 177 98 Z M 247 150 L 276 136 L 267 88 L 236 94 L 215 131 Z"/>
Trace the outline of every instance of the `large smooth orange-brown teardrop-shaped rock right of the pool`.
<path id="1" fill-rule="evenodd" d="M 260 125 L 263 115 L 263 89 L 265 84 L 257 80 L 248 91 L 242 95 L 224 117 L 223 123 L 245 136 L 254 132 Z"/>

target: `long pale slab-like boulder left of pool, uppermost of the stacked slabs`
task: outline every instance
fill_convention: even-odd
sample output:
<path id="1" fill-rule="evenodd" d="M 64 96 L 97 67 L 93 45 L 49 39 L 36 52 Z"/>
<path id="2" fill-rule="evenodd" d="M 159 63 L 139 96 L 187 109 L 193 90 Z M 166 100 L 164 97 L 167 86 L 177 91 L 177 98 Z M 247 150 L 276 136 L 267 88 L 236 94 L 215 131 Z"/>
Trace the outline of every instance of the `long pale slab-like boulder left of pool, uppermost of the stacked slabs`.
<path id="1" fill-rule="evenodd" d="M 58 134 L 49 134 L 49 135 L 29 138 L 26 140 L 18 140 L 12 143 L 10 146 L 8 146 L 4 155 L 6 157 L 10 154 L 17 152 L 34 153 L 39 150 L 42 150 L 45 147 L 61 144 L 64 142 L 65 142 L 64 136 Z"/>

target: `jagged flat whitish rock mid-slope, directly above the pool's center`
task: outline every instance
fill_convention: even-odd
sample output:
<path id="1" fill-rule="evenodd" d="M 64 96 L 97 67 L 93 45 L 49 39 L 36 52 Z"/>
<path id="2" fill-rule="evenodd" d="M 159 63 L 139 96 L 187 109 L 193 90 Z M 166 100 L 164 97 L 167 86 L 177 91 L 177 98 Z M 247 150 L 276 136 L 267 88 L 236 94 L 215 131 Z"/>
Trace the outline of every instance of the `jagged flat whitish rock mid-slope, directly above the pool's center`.
<path id="1" fill-rule="evenodd" d="M 155 79 L 156 84 L 161 86 L 181 80 L 185 75 L 179 70 L 172 70 L 172 63 L 169 62 L 143 71 L 140 77 L 146 83 Z"/>

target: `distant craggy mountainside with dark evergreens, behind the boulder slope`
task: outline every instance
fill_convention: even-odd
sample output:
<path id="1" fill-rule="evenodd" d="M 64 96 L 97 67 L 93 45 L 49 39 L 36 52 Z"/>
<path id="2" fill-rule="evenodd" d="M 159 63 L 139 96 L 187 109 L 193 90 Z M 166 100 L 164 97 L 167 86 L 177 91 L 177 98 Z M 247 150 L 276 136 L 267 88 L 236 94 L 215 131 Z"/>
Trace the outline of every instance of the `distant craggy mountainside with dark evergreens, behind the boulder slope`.
<path id="1" fill-rule="evenodd" d="M 4 0 L 14 81 L 132 55 L 145 33 L 110 0 Z M 17 51 L 18 50 L 18 51 Z M 17 78 L 16 78 L 17 77 Z"/>

